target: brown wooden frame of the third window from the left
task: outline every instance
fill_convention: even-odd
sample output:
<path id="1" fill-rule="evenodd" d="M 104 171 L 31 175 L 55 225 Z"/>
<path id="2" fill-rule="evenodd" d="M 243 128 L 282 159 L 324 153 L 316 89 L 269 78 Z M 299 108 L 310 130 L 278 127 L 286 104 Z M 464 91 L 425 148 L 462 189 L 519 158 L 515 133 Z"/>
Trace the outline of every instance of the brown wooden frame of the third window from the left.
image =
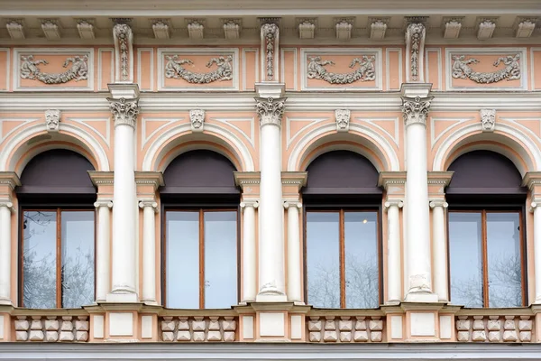
<path id="1" fill-rule="evenodd" d="M 340 309 L 346 309 L 347 305 L 345 303 L 345 221 L 344 215 L 347 212 L 373 212 L 376 214 L 376 229 L 377 229 L 377 245 L 376 249 L 378 251 L 378 300 L 381 305 L 383 300 L 383 273 L 382 273 L 382 242 L 381 242 L 381 207 L 326 207 L 326 206 L 307 206 L 303 207 L 303 218 L 304 218 L 304 245 L 303 245 L 303 259 L 304 259 L 304 293 L 305 300 L 309 303 L 308 299 L 308 272 L 307 272 L 307 213 L 320 212 L 320 213 L 338 213 L 339 214 L 339 225 L 338 225 L 338 234 L 339 234 L 339 262 L 340 262 Z"/>

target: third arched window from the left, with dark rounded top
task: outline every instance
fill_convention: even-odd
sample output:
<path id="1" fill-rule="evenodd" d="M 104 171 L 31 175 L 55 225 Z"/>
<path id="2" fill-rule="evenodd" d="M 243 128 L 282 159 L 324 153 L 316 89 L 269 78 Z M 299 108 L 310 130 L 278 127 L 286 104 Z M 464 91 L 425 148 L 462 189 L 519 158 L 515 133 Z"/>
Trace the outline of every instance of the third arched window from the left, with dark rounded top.
<path id="1" fill-rule="evenodd" d="M 381 189 L 357 153 L 324 153 L 307 167 L 305 285 L 319 308 L 377 308 L 381 301 Z"/>

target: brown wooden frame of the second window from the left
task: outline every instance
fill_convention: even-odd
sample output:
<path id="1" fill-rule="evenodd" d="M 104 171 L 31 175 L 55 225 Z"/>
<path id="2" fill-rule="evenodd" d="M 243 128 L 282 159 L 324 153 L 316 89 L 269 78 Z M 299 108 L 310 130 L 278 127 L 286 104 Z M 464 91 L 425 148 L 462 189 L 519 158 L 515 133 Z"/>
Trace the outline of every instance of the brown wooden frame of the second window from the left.
<path id="1" fill-rule="evenodd" d="M 234 212 L 236 214 L 236 264 L 237 264 L 237 303 L 240 300 L 240 222 L 239 222 L 239 208 L 224 207 L 163 207 L 163 215 L 161 219 L 161 293 L 162 300 L 165 307 L 167 307 L 167 212 L 192 212 L 198 213 L 199 219 L 199 247 L 198 247 L 198 259 L 199 259 L 199 308 L 198 310 L 205 310 L 205 213 L 210 212 Z"/>

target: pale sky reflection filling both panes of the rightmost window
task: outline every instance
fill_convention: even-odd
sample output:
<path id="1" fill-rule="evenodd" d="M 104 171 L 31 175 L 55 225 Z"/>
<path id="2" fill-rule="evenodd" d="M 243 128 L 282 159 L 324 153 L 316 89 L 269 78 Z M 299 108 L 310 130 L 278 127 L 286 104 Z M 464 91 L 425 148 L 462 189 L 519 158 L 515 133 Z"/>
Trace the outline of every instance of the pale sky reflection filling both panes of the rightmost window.
<path id="1" fill-rule="evenodd" d="M 489 302 L 491 307 L 522 303 L 519 215 L 487 213 Z M 482 307 L 481 213 L 449 213 L 451 301 Z"/>

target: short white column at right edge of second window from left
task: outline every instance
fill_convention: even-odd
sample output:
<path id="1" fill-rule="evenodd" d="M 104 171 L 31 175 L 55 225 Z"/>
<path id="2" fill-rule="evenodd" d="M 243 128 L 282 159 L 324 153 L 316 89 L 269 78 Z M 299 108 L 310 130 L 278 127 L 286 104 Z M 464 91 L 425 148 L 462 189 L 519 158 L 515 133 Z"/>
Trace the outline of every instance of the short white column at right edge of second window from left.
<path id="1" fill-rule="evenodd" d="M 255 301 L 257 294 L 255 275 L 255 208 L 259 203 L 256 199 L 244 199 L 243 208 L 243 304 Z"/>

